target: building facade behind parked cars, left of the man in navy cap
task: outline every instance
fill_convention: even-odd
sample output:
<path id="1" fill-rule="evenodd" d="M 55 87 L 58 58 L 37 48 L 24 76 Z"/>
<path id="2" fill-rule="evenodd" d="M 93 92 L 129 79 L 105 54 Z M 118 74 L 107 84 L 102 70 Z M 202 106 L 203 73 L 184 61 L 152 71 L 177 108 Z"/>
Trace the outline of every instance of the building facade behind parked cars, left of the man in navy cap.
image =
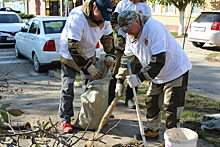
<path id="1" fill-rule="evenodd" d="M 83 0 L 0 0 L 0 7 L 11 7 L 26 14 L 37 16 L 65 16 Z"/>

